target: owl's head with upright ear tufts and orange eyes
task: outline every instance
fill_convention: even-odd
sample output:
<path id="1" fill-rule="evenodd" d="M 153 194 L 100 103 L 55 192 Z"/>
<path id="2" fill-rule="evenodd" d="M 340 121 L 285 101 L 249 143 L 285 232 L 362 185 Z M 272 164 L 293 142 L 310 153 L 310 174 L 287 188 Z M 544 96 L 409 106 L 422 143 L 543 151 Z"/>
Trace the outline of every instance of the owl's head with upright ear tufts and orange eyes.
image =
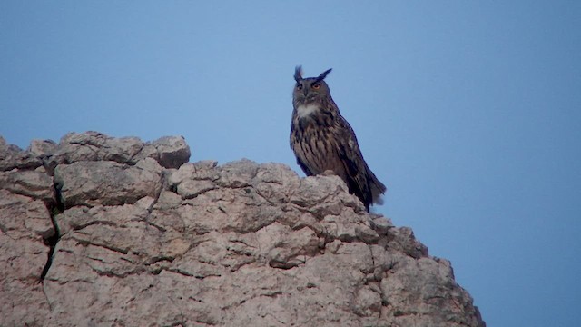
<path id="1" fill-rule="evenodd" d="M 318 103 L 322 99 L 330 98 L 329 85 L 324 81 L 330 71 L 331 69 L 328 69 L 317 77 L 302 78 L 301 67 L 297 66 L 294 70 L 294 80 L 297 84 L 294 85 L 292 93 L 294 104 Z"/>

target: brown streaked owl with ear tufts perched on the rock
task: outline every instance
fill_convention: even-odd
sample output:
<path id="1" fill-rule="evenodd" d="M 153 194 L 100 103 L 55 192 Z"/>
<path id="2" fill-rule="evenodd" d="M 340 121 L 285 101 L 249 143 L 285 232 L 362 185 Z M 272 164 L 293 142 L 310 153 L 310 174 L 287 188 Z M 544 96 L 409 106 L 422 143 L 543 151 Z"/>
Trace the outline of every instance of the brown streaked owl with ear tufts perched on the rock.
<path id="1" fill-rule="evenodd" d="M 324 81 L 330 71 L 302 78 L 300 66 L 296 67 L 291 149 L 307 176 L 327 171 L 339 175 L 369 212 L 369 205 L 382 203 L 386 188 L 365 163 L 353 129 L 330 96 Z"/>

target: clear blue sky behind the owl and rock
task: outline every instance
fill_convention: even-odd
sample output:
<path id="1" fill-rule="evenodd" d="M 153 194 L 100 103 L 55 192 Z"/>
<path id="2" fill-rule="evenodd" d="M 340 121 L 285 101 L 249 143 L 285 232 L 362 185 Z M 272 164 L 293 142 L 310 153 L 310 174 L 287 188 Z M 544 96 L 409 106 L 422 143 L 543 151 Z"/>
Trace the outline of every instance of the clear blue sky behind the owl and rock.
<path id="1" fill-rule="evenodd" d="M 294 66 L 488 326 L 581 322 L 581 2 L 1 1 L 0 134 L 289 164 Z M 302 173 L 300 173 L 302 175 Z"/>

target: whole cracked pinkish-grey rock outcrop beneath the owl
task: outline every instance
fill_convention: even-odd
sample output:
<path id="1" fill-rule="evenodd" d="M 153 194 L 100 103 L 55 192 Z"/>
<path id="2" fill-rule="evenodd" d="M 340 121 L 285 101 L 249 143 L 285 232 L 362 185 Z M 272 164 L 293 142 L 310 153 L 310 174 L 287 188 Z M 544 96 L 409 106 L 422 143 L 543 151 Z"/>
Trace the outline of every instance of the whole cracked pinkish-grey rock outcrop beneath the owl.
<path id="1" fill-rule="evenodd" d="M 189 157 L 182 137 L 0 137 L 0 325 L 485 326 L 340 178 Z"/>

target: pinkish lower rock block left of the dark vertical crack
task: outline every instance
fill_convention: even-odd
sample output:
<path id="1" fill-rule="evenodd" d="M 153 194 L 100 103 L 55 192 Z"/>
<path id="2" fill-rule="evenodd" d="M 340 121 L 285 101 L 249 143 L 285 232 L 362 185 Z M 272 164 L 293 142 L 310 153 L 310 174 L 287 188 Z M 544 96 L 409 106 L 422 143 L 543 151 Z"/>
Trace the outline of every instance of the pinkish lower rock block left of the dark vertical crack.
<path id="1" fill-rule="evenodd" d="M 49 316 L 40 277 L 53 235 L 42 201 L 0 190 L 0 325 L 43 325 Z"/>

